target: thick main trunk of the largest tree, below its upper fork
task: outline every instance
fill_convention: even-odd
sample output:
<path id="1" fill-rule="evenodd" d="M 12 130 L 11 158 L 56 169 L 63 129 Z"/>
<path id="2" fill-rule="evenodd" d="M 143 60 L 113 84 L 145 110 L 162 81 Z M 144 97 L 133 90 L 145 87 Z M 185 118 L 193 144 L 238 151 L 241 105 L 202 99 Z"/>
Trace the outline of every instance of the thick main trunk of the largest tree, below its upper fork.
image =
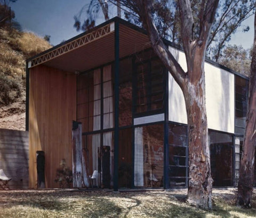
<path id="1" fill-rule="evenodd" d="M 193 78 L 184 88 L 188 116 L 189 180 L 188 198 L 190 204 L 212 208 L 212 177 L 210 165 L 210 147 L 208 140 L 205 74 L 203 64 L 198 64 L 202 54 L 195 52 L 191 64 Z M 203 58 L 204 59 L 204 58 Z"/>

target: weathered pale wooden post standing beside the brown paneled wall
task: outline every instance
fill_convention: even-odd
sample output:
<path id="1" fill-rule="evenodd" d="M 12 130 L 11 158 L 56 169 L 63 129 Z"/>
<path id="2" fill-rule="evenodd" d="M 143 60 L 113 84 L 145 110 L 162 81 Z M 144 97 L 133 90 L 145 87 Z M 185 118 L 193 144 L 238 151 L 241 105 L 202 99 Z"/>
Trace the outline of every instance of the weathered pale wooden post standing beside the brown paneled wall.
<path id="1" fill-rule="evenodd" d="M 82 146 L 82 123 L 73 120 L 72 128 L 73 187 L 89 187 L 86 171 L 86 154 Z"/>

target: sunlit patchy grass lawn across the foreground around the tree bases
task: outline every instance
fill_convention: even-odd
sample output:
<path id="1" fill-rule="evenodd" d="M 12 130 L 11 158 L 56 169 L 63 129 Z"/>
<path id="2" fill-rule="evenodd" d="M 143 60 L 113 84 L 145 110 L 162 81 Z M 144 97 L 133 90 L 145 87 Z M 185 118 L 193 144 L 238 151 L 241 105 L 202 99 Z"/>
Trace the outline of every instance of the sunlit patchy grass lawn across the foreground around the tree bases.
<path id="1" fill-rule="evenodd" d="M 0 217 L 256 217 L 256 190 L 253 209 L 243 209 L 235 206 L 236 189 L 214 189 L 212 211 L 188 205 L 186 193 L 5 190 L 0 191 Z"/>

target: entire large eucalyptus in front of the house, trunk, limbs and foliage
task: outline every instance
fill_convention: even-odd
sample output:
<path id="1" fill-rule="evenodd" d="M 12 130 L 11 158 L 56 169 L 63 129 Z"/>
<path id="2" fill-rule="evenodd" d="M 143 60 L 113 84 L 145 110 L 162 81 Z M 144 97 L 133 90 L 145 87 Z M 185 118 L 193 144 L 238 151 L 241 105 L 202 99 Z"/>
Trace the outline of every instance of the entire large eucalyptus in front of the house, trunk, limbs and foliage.
<path id="1" fill-rule="evenodd" d="M 221 1 L 220 8 L 218 8 L 219 1 Z M 116 4 L 115 0 L 108 2 Z M 209 47 L 209 42 L 219 42 L 218 37 L 233 22 L 231 25 L 234 27 L 233 31 L 225 32 L 227 34 L 223 36 L 223 40 L 221 38 L 219 50 L 217 49 L 212 56 L 216 58 L 215 54 L 220 54 L 218 51 L 225 44 L 223 42 L 228 41 L 243 19 L 247 18 L 254 10 L 254 6 L 251 7 L 251 2 L 250 0 L 120 0 L 121 6 L 126 11 L 126 18 L 141 24 L 147 30 L 155 53 L 183 92 L 189 138 L 187 200 L 189 203 L 203 208 L 212 208 L 212 177 L 205 106 L 204 61 L 206 50 Z M 241 4 L 247 6 L 243 7 L 242 11 L 239 10 Z M 244 10 L 249 13 L 245 15 L 242 13 Z M 218 13 L 216 14 L 216 12 Z M 233 15 L 229 17 L 231 14 Z M 240 16 L 239 19 L 234 20 L 233 18 L 236 18 L 237 15 Z M 92 21 L 91 23 L 95 25 L 95 20 Z M 80 28 L 79 19 L 76 22 L 78 25 L 75 24 L 75 26 Z M 91 23 L 87 20 L 84 25 L 88 26 Z M 164 44 L 163 37 L 180 43 L 186 55 L 187 71 L 183 70 L 175 60 Z"/>

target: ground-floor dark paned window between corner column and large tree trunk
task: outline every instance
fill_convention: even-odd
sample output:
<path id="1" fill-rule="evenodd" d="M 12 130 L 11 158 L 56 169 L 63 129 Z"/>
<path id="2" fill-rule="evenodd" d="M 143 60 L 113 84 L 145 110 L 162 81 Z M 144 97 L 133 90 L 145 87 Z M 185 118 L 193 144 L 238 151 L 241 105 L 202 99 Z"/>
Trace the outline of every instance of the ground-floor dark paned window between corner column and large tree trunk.
<path id="1" fill-rule="evenodd" d="M 169 124 L 170 187 L 181 187 L 187 185 L 187 149 L 187 127 Z"/>

